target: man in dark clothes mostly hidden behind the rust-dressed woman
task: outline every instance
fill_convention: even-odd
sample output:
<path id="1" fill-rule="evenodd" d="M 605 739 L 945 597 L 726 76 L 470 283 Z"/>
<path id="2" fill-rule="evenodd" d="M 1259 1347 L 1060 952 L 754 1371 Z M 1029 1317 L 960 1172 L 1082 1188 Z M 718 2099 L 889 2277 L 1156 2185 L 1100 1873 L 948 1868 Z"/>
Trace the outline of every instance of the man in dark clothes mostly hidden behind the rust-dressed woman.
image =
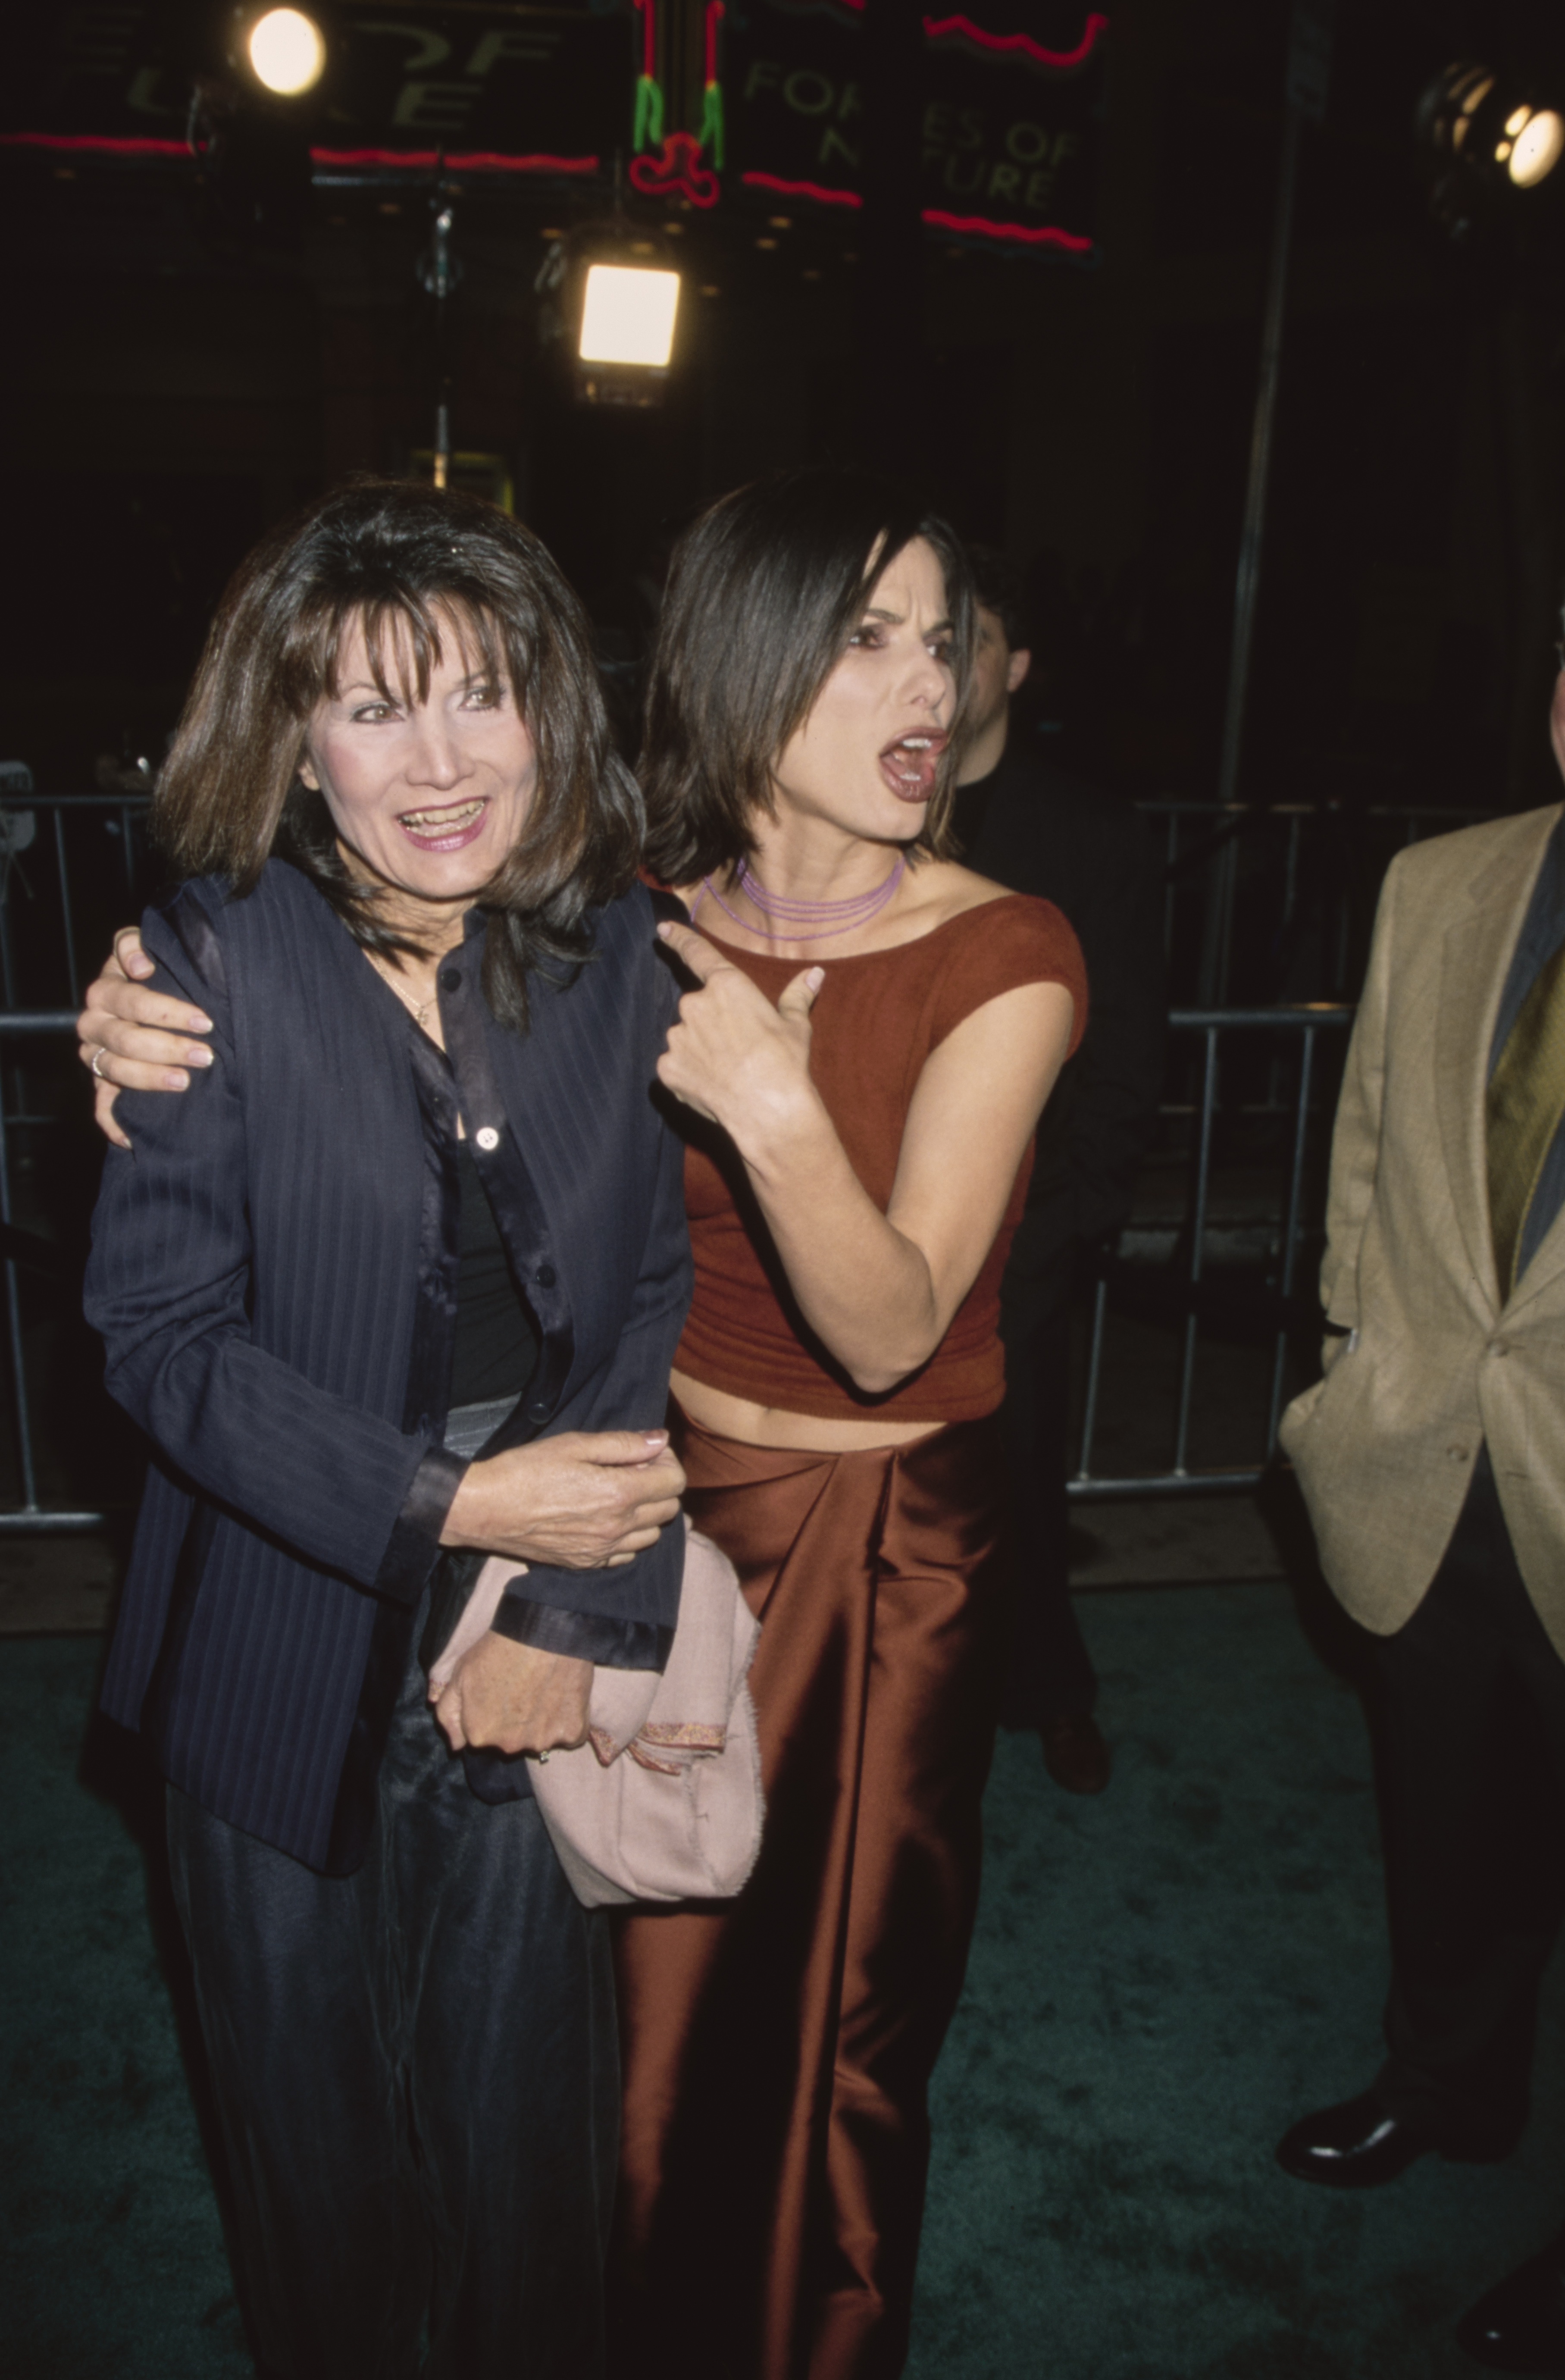
<path id="1" fill-rule="evenodd" d="M 1004 1430 L 1013 1478 L 1016 1640 L 1004 1723 L 1037 1728 L 1068 1792 L 1101 1792 L 1111 1754 L 1096 1676 L 1068 1592 L 1070 1285 L 1118 1230 L 1163 1088 L 1161 864 L 1142 819 L 1042 757 L 1016 709 L 1032 645 L 1016 564 L 970 545 L 980 647 L 956 790 L 961 857 L 1013 892 L 1056 902 L 1087 957 L 1087 1038 L 1037 1128 L 1027 1211 L 1001 1290 Z"/>

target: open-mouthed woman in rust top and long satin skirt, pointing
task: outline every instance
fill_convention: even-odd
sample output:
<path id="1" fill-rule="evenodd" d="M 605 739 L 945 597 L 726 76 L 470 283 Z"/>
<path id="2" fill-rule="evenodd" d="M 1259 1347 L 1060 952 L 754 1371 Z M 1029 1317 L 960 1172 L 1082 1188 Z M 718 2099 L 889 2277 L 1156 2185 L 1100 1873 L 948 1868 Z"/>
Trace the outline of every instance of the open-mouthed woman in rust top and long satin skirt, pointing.
<path id="1" fill-rule="evenodd" d="M 928 2080 L 978 1899 L 992 1745 L 999 1273 L 1085 1026 L 1049 902 L 947 854 L 973 600 L 863 474 L 740 490 L 680 543 L 647 697 L 652 871 L 694 985 L 675 1354 L 692 1518 L 761 1645 L 756 1873 L 618 1935 L 616 2370 L 901 2368 Z M 178 1054 L 119 1021 L 114 1076 Z M 171 1019 L 169 1019 L 171 1021 Z M 145 1073 L 140 1076 L 145 1081 Z"/>

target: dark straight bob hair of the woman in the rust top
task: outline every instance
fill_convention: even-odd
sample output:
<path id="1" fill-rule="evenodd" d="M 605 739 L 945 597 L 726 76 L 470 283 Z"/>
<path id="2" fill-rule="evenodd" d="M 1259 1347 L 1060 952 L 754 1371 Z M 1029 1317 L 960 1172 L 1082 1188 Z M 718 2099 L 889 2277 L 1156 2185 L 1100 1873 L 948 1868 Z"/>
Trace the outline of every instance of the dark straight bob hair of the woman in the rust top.
<path id="1" fill-rule="evenodd" d="M 868 471 L 778 471 L 725 495 L 680 538 L 647 683 L 640 778 L 647 862 L 694 883 L 754 850 L 773 769 L 809 716 L 880 571 L 925 538 L 947 581 L 956 709 L 973 669 L 973 588 L 956 536 L 918 495 Z M 918 850 L 949 850 L 956 738 Z"/>

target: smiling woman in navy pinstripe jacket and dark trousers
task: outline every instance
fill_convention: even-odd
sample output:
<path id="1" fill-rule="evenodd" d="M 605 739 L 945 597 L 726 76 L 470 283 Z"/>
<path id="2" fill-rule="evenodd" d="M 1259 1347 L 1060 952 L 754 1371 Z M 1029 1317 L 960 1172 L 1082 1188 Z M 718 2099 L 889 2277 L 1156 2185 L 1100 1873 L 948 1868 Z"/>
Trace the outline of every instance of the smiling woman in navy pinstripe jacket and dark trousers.
<path id="1" fill-rule="evenodd" d="M 545 550 L 404 486 L 250 555 L 155 797 L 157 1014 L 216 1064 L 126 1104 L 93 1226 L 152 1442 L 102 1699 L 169 1780 L 274 2375 L 602 2368 L 609 1942 L 526 1754 L 678 1606 L 640 823 Z M 430 1711 L 485 1554 L 526 1576 Z"/>

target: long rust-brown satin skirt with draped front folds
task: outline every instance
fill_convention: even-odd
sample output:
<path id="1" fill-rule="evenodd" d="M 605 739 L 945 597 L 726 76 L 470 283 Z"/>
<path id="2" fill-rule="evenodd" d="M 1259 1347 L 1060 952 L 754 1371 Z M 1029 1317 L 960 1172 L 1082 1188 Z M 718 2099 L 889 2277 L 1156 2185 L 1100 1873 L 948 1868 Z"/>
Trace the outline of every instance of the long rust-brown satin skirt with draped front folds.
<path id="1" fill-rule="evenodd" d="M 621 1921 L 611 2370 L 890 2380 L 978 1906 L 994 1426 L 799 1454 L 683 1418 L 675 1445 L 763 1623 L 766 1840 L 735 1902 Z"/>

